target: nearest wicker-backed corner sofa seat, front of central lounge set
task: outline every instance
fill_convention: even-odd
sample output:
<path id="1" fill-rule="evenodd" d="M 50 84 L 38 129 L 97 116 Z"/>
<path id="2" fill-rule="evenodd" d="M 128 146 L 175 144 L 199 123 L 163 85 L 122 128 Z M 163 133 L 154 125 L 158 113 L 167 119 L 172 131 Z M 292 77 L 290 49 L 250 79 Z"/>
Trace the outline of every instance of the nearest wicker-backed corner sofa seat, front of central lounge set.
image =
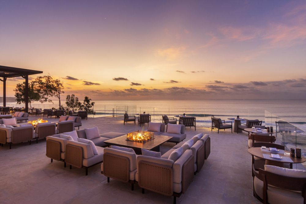
<path id="1" fill-rule="evenodd" d="M 136 181 L 139 187 L 166 196 L 180 197 L 194 176 L 192 150 L 186 150 L 177 161 L 139 155 L 137 157 Z"/>

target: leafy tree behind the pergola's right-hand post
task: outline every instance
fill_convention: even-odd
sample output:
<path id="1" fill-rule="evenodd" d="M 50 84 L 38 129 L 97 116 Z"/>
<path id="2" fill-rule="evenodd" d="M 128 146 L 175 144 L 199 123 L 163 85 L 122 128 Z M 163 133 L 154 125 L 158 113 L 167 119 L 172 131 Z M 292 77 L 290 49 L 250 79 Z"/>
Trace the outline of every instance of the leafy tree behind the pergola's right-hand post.
<path id="1" fill-rule="evenodd" d="M 28 102 L 30 103 L 30 107 L 32 108 L 31 103 L 34 101 L 40 101 L 41 98 L 40 98 L 40 94 L 39 94 L 37 87 L 35 87 L 35 83 L 31 82 L 28 85 L 29 85 Z M 25 82 L 18 83 L 14 91 L 15 91 L 15 97 L 16 97 L 15 100 L 17 101 L 17 104 L 25 103 L 25 99 L 24 99 Z"/>

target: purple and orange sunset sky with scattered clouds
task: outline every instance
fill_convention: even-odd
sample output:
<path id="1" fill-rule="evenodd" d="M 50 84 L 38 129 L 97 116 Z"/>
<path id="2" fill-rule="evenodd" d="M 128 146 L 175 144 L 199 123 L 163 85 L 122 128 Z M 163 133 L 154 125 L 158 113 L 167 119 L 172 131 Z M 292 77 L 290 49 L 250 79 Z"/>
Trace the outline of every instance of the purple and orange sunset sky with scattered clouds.
<path id="1" fill-rule="evenodd" d="M 0 65 L 94 100 L 306 99 L 306 1 L 0 0 Z"/>

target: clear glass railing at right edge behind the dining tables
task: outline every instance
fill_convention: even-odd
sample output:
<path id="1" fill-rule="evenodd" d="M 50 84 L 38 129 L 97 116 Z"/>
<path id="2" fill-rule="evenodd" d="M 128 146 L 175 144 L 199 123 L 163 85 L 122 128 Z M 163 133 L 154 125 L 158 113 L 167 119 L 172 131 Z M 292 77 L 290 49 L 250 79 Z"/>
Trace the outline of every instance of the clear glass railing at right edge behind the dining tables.
<path id="1" fill-rule="evenodd" d="M 306 132 L 290 122 L 265 110 L 265 125 L 273 127 L 276 132 L 276 142 L 285 146 L 286 150 L 301 148 L 302 155 L 306 156 Z"/>

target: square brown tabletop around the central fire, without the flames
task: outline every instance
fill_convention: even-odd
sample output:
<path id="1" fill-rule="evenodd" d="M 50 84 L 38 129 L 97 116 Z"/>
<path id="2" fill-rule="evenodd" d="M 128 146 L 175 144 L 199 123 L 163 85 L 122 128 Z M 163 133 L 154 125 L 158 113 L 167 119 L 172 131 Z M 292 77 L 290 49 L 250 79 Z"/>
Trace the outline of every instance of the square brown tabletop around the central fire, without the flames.
<path id="1" fill-rule="evenodd" d="M 136 154 L 141 154 L 141 148 L 159 152 L 159 146 L 172 138 L 171 136 L 166 135 L 154 135 L 154 137 L 154 139 L 151 139 L 145 143 L 140 143 L 126 140 L 126 135 L 122 135 L 120 137 L 105 140 L 104 142 L 108 145 L 129 147 L 132 148 Z"/>

